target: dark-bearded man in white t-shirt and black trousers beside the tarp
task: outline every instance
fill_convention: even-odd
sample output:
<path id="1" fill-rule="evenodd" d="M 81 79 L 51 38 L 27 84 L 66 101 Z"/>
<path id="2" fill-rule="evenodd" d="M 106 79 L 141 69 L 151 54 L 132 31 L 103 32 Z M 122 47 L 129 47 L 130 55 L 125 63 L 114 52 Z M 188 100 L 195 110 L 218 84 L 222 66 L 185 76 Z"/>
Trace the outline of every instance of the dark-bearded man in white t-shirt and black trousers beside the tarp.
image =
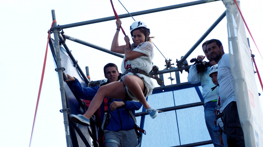
<path id="1" fill-rule="evenodd" d="M 227 144 L 231 147 L 243 147 L 245 146 L 244 133 L 236 106 L 229 54 L 224 53 L 222 43 L 216 39 L 207 42 L 207 51 L 210 57 L 218 64 L 217 80 L 220 85 L 219 95 L 222 103 L 220 113 L 223 113 Z"/>

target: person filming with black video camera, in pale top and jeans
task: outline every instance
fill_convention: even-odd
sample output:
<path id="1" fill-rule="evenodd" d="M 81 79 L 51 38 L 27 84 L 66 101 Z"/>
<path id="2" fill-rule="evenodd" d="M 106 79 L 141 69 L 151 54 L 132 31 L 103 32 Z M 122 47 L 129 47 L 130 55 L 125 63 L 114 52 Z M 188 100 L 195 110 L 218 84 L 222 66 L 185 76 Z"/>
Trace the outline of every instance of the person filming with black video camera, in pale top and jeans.
<path id="1" fill-rule="evenodd" d="M 219 93 L 219 87 L 216 87 L 213 91 L 211 90 L 212 87 L 215 87 L 214 83 L 212 82 L 211 78 L 209 77 L 209 69 L 212 65 L 217 64 L 210 58 L 207 52 L 206 44 L 208 41 L 205 41 L 202 44 L 203 52 L 205 56 L 210 61 L 204 62 L 205 56 L 198 55 L 197 59 L 195 60 L 195 64 L 190 67 L 189 74 L 187 77 L 188 83 L 197 84 L 201 82 L 201 86 L 203 87 L 202 96 L 205 101 L 204 112 L 205 112 L 205 123 L 207 126 L 207 130 L 209 135 L 212 139 L 212 142 L 215 147 L 223 145 L 220 144 L 220 132 L 213 132 L 214 127 L 214 119 L 216 117 L 216 110 L 215 107 L 217 105 L 217 96 Z M 201 62 L 202 61 L 202 62 Z M 191 61 L 192 62 L 192 61 Z"/>

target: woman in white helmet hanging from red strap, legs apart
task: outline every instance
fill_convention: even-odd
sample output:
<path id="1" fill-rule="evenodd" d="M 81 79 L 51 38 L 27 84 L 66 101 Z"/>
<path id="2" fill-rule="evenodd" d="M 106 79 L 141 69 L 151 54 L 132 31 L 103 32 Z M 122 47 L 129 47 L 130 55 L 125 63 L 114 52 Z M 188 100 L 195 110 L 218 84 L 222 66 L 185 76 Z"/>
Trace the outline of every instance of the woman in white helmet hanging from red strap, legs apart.
<path id="1" fill-rule="evenodd" d="M 113 37 L 111 51 L 124 54 L 122 61 L 121 71 L 126 73 L 121 81 L 112 82 L 107 85 L 101 86 L 90 103 L 87 112 L 83 115 L 70 115 L 70 119 L 76 123 L 88 126 L 90 124 L 90 117 L 101 105 L 104 97 L 114 99 L 139 100 L 146 109 L 146 112 L 155 118 L 158 115 L 158 110 L 154 110 L 146 101 L 146 97 L 152 94 L 154 83 L 150 77 L 140 74 L 127 72 L 129 69 L 139 69 L 149 73 L 152 68 L 153 59 L 153 44 L 149 37 L 150 29 L 142 21 L 136 21 L 130 26 L 131 37 L 133 44 L 129 48 L 129 37 L 125 36 L 125 45 L 119 46 L 118 37 L 120 32 L 120 19 L 116 20 L 117 31 Z"/>

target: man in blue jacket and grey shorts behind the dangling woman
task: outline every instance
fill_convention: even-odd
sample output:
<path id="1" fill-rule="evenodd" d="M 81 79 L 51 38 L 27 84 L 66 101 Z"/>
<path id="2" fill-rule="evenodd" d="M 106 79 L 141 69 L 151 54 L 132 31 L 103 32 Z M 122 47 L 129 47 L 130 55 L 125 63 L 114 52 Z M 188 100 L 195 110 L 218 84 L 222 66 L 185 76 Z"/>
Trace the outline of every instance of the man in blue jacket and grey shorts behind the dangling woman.
<path id="1" fill-rule="evenodd" d="M 118 71 L 117 65 L 108 63 L 104 66 L 104 76 L 107 82 L 102 83 L 100 86 L 106 85 L 111 82 L 118 81 L 121 74 Z M 65 80 L 68 84 L 72 85 L 75 94 L 84 100 L 92 100 L 97 93 L 99 87 L 82 87 L 79 81 L 70 76 Z M 106 80 L 103 80 L 106 81 Z M 121 99 L 108 99 L 108 110 L 110 119 L 108 124 L 104 127 L 105 146 L 118 147 L 118 146 L 136 146 L 138 145 L 137 135 L 134 130 L 134 120 L 129 114 L 129 110 L 135 116 L 135 110 L 139 110 L 142 106 L 140 102 L 135 101 L 122 101 Z M 104 102 L 101 104 L 101 120 L 104 117 Z M 99 126 L 101 127 L 101 126 Z M 107 141 L 106 141 L 107 140 Z"/>

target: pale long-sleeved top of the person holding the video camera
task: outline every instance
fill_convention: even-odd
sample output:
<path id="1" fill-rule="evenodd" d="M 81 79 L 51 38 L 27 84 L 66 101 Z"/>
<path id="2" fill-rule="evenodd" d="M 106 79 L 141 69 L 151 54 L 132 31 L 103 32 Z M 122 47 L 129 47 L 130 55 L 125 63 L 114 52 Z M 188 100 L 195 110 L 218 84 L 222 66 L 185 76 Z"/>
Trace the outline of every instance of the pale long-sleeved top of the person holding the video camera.
<path id="1" fill-rule="evenodd" d="M 191 66 L 189 69 L 189 74 L 187 77 L 188 83 L 191 84 L 197 84 L 201 82 L 201 86 L 203 87 L 202 96 L 205 100 L 205 103 L 216 100 L 218 93 L 219 93 L 219 87 L 217 86 L 213 91 L 212 87 L 215 87 L 214 83 L 212 82 L 212 79 L 209 77 L 209 69 L 210 67 L 207 67 L 207 71 L 197 73 L 196 66 Z M 220 85 L 221 86 L 221 85 Z"/>

